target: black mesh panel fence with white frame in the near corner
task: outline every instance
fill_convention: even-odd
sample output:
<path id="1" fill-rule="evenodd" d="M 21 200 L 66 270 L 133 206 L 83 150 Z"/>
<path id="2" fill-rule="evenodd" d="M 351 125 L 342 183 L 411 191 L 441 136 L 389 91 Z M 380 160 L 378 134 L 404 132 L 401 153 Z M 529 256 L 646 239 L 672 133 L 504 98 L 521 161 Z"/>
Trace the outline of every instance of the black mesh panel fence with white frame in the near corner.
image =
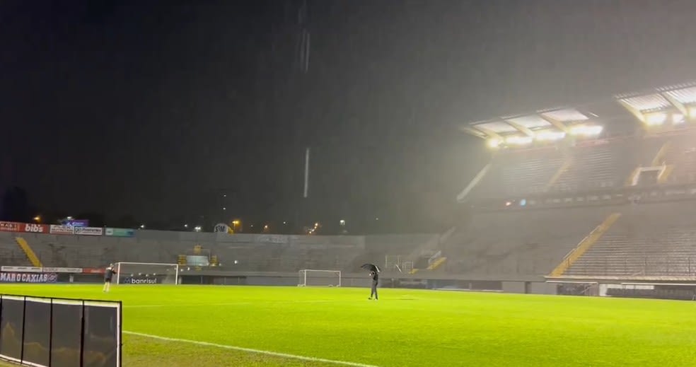
<path id="1" fill-rule="evenodd" d="M 0 295 L 0 359 L 120 367 L 121 303 Z"/>

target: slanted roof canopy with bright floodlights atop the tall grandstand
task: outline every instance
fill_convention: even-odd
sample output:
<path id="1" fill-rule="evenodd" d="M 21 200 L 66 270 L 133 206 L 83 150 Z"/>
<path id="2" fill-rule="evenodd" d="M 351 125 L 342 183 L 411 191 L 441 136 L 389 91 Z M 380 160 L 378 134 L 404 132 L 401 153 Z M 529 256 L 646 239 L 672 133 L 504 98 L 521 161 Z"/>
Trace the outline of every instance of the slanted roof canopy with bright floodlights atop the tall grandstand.
<path id="1" fill-rule="evenodd" d="M 630 113 L 627 113 L 630 112 Z M 635 117 L 650 127 L 696 122 L 696 82 L 614 95 L 584 107 L 557 107 L 535 112 L 494 117 L 463 124 L 467 134 L 487 139 L 491 146 L 529 144 L 533 140 L 558 140 L 567 134 L 596 136 L 604 127 L 635 127 Z"/>

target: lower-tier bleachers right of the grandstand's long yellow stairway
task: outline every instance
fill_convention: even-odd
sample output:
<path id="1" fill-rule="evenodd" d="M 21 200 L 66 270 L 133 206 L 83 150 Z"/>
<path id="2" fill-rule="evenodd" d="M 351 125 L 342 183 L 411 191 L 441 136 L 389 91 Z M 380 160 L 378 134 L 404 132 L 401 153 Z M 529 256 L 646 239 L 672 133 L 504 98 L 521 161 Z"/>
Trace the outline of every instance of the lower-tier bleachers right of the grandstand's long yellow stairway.
<path id="1" fill-rule="evenodd" d="M 696 276 L 692 202 L 625 206 L 567 276 Z"/>

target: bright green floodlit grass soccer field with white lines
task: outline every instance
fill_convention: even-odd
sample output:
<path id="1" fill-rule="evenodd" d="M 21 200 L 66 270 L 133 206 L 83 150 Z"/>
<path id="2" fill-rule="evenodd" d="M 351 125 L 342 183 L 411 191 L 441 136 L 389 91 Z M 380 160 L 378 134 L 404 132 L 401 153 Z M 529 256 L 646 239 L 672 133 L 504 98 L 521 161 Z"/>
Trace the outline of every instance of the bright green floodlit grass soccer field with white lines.
<path id="1" fill-rule="evenodd" d="M 123 301 L 151 366 L 695 366 L 696 303 L 381 289 L 0 285 Z M 166 339 L 170 338 L 170 339 Z M 196 344 L 205 342 L 205 344 Z"/>

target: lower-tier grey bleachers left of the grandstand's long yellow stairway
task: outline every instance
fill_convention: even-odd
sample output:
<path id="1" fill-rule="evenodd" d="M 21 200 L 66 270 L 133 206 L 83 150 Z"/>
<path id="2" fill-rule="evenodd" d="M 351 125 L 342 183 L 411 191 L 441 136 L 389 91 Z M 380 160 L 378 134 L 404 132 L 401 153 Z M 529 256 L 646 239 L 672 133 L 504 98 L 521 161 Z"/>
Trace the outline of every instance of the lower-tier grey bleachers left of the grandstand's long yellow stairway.
<path id="1" fill-rule="evenodd" d="M 443 249 L 446 272 L 547 274 L 615 208 L 511 210 L 477 214 Z"/>

